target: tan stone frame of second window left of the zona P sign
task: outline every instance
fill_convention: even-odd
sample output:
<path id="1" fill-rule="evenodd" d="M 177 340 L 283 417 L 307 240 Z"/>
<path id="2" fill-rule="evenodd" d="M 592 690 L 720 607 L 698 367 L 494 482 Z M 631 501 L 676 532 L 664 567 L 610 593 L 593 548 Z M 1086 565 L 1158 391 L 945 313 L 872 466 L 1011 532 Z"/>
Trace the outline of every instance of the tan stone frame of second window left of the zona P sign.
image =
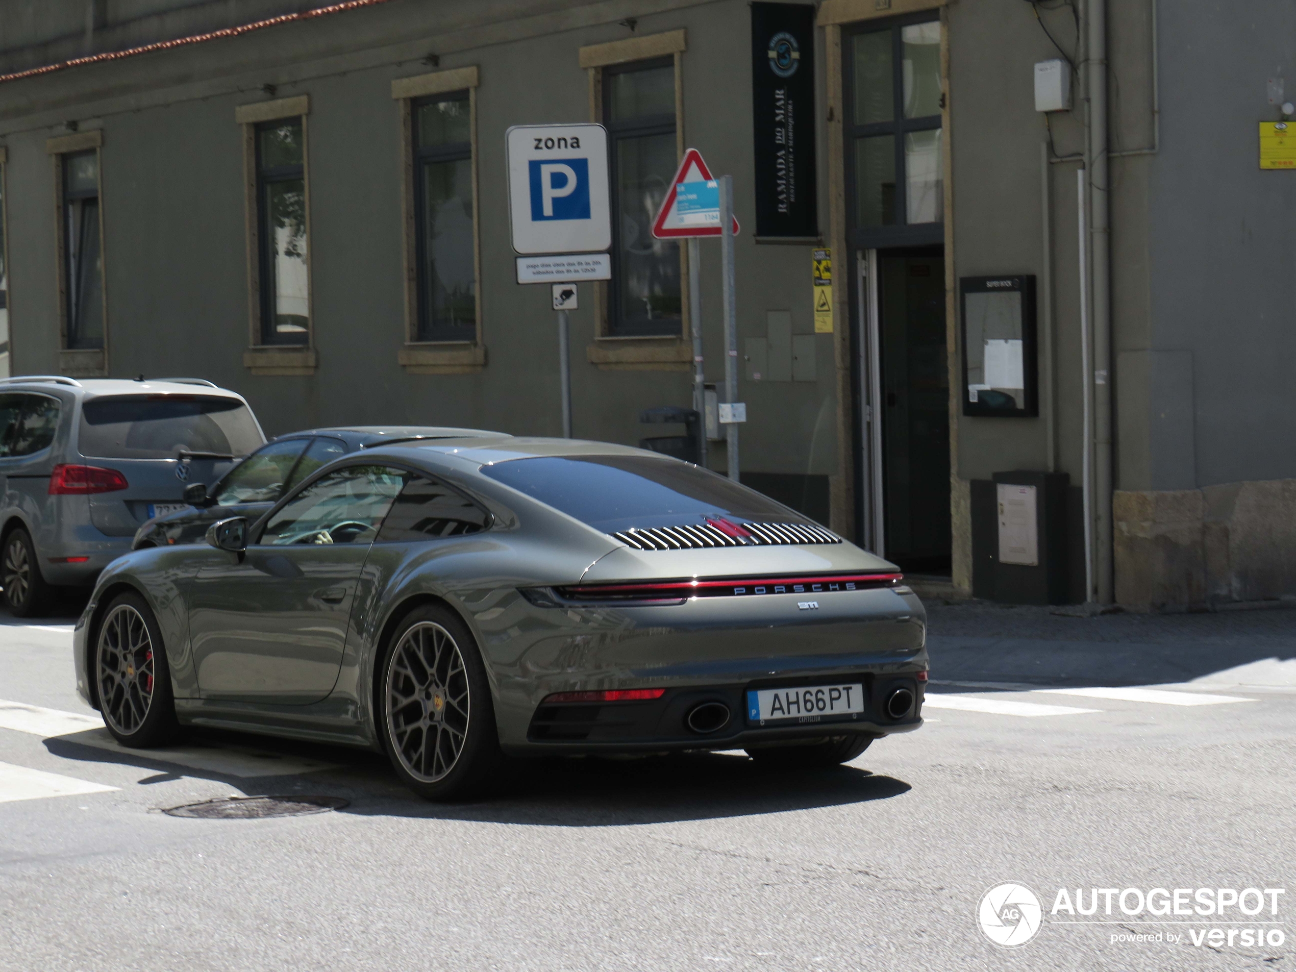
<path id="1" fill-rule="evenodd" d="M 314 375 L 319 365 L 315 349 L 315 283 L 311 272 L 311 96 L 257 101 L 235 108 L 235 123 L 242 130 L 244 158 L 244 236 L 248 246 L 248 350 L 244 367 L 258 376 Z M 260 185 L 257 168 L 257 130 L 264 122 L 301 119 L 302 183 L 306 194 L 306 345 L 263 345 L 260 281 Z"/>

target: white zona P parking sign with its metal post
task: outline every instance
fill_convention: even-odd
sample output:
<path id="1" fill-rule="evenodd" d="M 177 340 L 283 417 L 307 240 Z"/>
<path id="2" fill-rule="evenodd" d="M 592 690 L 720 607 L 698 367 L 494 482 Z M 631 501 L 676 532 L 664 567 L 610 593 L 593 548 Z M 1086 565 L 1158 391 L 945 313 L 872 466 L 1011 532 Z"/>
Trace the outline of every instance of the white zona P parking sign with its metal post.
<path id="1" fill-rule="evenodd" d="M 516 124 L 504 139 L 517 283 L 555 285 L 562 435 L 572 438 L 568 310 L 577 306 L 575 281 L 612 279 L 608 132 L 601 124 Z"/>

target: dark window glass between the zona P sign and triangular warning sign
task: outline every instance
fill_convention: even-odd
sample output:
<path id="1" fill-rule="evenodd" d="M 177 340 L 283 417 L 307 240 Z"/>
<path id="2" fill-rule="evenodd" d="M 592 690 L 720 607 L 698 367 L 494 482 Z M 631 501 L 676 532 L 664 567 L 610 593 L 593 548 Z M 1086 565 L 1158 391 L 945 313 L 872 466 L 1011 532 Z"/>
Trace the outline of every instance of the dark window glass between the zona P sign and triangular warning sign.
<path id="1" fill-rule="evenodd" d="M 678 162 L 674 60 L 605 67 L 603 109 L 613 219 L 608 334 L 678 336 L 679 245 L 652 235 Z"/>

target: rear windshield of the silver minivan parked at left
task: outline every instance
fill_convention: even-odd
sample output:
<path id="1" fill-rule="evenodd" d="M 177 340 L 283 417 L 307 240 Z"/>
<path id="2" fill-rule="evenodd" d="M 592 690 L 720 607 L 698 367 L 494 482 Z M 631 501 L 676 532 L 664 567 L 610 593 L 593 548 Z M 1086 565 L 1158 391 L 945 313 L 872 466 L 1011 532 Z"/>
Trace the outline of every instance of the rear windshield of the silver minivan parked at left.
<path id="1" fill-rule="evenodd" d="M 176 459 L 181 450 L 244 456 L 264 442 L 237 398 L 114 395 L 82 406 L 80 454 L 98 459 Z"/>

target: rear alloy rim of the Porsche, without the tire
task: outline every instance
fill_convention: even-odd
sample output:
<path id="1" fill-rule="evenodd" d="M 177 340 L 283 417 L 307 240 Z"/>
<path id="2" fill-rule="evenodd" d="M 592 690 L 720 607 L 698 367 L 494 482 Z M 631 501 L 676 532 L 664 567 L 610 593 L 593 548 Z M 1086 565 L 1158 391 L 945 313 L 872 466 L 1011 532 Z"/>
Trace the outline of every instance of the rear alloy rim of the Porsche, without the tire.
<path id="1" fill-rule="evenodd" d="M 468 673 L 450 631 L 420 621 L 404 632 L 388 666 L 386 702 L 400 765 L 422 783 L 443 779 L 459 762 L 469 718 Z"/>

